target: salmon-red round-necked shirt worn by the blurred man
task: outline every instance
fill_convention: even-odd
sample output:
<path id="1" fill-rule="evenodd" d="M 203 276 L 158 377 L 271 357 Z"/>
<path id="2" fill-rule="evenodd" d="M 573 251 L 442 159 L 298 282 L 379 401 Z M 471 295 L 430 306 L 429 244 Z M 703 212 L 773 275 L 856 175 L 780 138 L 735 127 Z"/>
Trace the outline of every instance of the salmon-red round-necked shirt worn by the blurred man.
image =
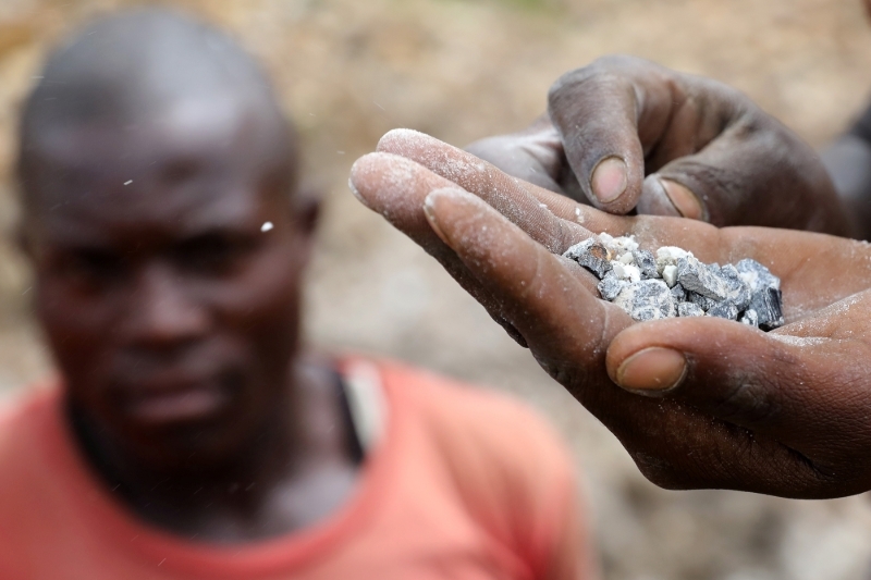
<path id="1" fill-rule="evenodd" d="M 388 408 L 353 496 L 308 529 L 209 544 L 136 518 L 90 471 L 60 388 L 0 409 L 0 578 L 590 578 L 571 461 L 523 405 L 377 363 Z"/>

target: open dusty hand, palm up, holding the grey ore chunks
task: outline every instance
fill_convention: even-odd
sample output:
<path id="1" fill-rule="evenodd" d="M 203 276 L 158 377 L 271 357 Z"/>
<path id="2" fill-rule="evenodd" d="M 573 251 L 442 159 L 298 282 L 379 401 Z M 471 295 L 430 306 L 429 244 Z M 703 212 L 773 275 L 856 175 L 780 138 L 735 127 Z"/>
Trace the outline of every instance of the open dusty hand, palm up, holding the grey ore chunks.
<path id="1" fill-rule="evenodd" d="M 789 497 L 871 489 L 871 248 L 821 234 L 615 217 L 408 131 L 352 170 L 356 195 L 427 251 L 670 489 Z M 591 232 L 753 258 L 782 279 L 787 324 L 634 323 L 560 256 Z"/>

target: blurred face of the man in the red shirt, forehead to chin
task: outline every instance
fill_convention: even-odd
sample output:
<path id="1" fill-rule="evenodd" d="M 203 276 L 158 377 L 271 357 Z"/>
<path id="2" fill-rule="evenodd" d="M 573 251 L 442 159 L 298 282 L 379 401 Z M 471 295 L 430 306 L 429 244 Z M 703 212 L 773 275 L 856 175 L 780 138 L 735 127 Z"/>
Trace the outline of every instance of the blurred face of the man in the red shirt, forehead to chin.
<path id="1" fill-rule="evenodd" d="M 250 115 L 195 110 L 59 132 L 29 180 L 38 313 L 69 396 L 158 455 L 220 454 L 284 402 L 309 246 L 286 147 Z"/>

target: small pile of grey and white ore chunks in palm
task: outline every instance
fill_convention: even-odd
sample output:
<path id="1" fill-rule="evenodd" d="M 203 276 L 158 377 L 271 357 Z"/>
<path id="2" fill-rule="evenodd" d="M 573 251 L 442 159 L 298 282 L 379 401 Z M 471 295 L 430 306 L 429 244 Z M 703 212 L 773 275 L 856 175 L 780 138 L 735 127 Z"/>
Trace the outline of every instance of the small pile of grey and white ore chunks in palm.
<path id="1" fill-rule="evenodd" d="M 719 317 L 762 330 L 783 325 L 781 280 L 756 260 L 721 267 L 664 246 L 640 249 L 634 237 L 599 234 L 568 248 L 599 279 L 599 293 L 642 322 L 673 317 Z"/>

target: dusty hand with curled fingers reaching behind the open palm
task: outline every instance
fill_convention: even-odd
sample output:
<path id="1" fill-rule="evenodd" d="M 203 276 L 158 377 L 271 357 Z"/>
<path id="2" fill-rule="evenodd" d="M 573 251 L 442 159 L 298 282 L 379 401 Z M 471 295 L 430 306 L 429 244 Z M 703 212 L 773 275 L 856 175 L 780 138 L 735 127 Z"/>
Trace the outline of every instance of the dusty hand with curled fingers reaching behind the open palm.
<path id="1" fill-rule="evenodd" d="M 739 91 L 631 57 L 551 87 L 549 116 L 468 147 L 610 213 L 848 233 L 817 153 Z"/>

